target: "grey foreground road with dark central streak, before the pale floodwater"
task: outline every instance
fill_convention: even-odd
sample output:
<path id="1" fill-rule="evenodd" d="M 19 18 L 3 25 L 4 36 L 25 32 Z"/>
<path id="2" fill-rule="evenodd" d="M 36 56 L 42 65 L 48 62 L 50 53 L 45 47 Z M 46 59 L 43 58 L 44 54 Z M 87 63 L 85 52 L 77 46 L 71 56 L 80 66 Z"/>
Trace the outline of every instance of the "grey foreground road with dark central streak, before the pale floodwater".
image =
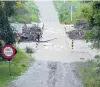
<path id="1" fill-rule="evenodd" d="M 24 75 L 7 87 L 83 87 L 69 63 L 35 61 Z"/>

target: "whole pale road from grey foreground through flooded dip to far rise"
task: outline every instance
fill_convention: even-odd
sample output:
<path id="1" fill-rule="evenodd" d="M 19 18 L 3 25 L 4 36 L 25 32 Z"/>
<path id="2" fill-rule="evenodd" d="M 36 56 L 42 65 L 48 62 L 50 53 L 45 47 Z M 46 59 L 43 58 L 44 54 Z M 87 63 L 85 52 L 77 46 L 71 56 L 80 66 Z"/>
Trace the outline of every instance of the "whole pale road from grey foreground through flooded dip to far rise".
<path id="1" fill-rule="evenodd" d="M 36 5 L 45 25 L 41 41 L 56 39 L 39 43 L 36 53 L 32 55 L 35 63 L 7 87 L 83 87 L 70 62 L 91 58 L 91 54 L 80 43 L 76 44 L 78 48 L 71 50 L 52 1 L 36 1 Z"/>

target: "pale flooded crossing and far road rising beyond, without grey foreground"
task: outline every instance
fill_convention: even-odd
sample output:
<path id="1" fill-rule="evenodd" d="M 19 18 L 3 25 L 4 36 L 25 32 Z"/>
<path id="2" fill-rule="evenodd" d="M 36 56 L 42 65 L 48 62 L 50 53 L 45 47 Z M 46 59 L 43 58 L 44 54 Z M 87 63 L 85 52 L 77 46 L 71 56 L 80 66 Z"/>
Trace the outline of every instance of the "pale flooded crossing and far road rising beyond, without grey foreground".
<path id="1" fill-rule="evenodd" d="M 44 23 L 44 34 L 42 41 L 52 41 L 46 43 L 40 43 L 38 50 L 33 54 L 36 60 L 45 61 L 60 61 L 60 62 L 73 62 L 80 61 L 80 58 L 84 60 L 91 58 L 91 54 L 86 50 L 84 42 L 76 44 L 74 50 L 71 50 L 71 43 L 65 34 L 64 26 L 59 23 L 56 9 L 53 5 L 53 1 L 37 1 L 36 2 L 40 14 L 41 22 Z M 67 29 L 73 27 L 68 26 Z M 82 44 L 84 44 L 82 46 Z"/>

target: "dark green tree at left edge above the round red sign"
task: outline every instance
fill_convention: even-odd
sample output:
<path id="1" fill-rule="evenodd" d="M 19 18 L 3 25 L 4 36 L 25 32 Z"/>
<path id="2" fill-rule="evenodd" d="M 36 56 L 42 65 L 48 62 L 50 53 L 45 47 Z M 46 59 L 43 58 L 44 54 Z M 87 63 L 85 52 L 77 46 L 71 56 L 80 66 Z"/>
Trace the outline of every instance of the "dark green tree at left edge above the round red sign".
<path id="1" fill-rule="evenodd" d="M 13 1 L 0 1 L 0 39 L 13 44 L 15 42 L 13 31 L 8 17 L 14 14 Z"/>

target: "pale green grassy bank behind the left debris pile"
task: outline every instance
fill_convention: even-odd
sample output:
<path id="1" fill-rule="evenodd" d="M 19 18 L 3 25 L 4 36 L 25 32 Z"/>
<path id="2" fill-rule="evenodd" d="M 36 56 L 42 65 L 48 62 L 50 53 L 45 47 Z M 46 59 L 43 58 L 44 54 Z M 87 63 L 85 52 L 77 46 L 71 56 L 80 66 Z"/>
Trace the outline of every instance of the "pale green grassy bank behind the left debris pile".
<path id="1" fill-rule="evenodd" d="M 39 10 L 34 1 L 25 1 L 22 6 L 15 6 L 15 14 L 9 20 L 19 23 L 40 22 Z"/>

